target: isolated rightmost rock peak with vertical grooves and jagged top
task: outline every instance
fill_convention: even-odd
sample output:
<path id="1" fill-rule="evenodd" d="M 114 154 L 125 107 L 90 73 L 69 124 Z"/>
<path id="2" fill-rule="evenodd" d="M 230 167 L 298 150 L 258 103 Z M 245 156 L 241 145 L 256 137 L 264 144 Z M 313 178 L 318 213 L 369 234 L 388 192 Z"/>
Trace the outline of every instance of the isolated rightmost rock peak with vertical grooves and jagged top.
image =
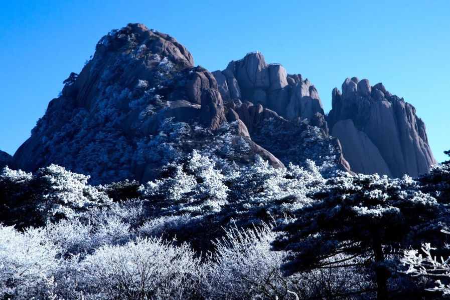
<path id="1" fill-rule="evenodd" d="M 347 78 L 342 94 L 334 89 L 332 97 L 329 128 L 353 171 L 418 176 L 436 163 L 415 108 L 381 83 Z"/>

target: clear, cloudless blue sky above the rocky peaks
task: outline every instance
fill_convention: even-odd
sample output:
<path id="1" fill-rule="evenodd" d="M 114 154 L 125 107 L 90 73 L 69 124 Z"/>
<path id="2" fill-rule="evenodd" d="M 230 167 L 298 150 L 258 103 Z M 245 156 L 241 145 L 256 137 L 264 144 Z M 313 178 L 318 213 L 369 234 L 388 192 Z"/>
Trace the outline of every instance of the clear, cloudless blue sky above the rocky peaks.
<path id="1" fill-rule="evenodd" d="M 98 40 L 144 23 L 224 69 L 261 51 L 317 87 L 325 111 L 346 77 L 383 82 L 417 109 L 438 161 L 450 149 L 450 1 L 0 0 L 0 149 L 14 154 Z"/>

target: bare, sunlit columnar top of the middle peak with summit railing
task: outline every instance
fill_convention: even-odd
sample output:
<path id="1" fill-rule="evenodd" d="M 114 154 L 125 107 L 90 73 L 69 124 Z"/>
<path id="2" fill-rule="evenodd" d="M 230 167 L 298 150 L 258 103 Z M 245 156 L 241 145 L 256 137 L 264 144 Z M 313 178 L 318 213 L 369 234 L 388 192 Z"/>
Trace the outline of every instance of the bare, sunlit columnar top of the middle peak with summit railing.
<path id="1" fill-rule="evenodd" d="M 259 52 L 248 53 L 232 61 L 223 71 L 212 73 L 219 85 L 222 99 L 249 101 L 293 120 L 312 119 L 324 115 L 322 102 L 314 85 L 301 75 L 288 75 L 279 64 L 267 65 Z"/>

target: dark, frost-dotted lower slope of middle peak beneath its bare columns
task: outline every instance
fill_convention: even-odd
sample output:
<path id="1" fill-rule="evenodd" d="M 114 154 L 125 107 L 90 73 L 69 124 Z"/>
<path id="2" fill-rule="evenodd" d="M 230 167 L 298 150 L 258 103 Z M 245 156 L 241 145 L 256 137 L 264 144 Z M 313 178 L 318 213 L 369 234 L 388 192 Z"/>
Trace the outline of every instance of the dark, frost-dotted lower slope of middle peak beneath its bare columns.
<path id="1" fill-rule="evenodd" d="M 290 162 L 303 165 L 311 159 L 319 166 L 331 166 L 328 171 L 324 168 L 324 175 L 332 173 L 334 167 L 351 171 L 339 140 L 328 135 L 327 122 L 320 113 L 311 121 L 286 120 L 261 104 L 244 102 L 229 108 L 226 117 L 228 122 L 241 122 L 239 126 L 243 131 L 249 132 L 253 141 L 268 149 L 284 165 Z"/>

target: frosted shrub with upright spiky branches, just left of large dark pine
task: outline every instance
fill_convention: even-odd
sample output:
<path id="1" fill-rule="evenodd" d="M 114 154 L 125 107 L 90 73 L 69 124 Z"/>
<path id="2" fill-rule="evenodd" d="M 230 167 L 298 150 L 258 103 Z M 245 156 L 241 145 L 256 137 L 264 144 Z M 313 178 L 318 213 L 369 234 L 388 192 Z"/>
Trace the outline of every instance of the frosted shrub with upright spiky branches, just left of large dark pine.
<path id="1" fill-rule="evenodd" d="M 215 243 L 208 263 L 210 298 L 282 298 L 292 282 L 279 269 L 284 253 L 270 250 L 274 238 L 265 224 L 248 230 L 229 228 Z"/>

